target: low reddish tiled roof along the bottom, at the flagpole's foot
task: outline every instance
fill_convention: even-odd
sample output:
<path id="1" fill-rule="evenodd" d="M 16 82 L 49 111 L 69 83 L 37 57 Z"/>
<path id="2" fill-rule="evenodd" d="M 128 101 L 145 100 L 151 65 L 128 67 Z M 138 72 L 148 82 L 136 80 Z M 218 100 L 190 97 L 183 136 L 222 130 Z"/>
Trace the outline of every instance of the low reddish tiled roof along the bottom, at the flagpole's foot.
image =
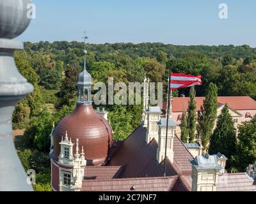
<path id="1" fill-rule="evenodd" d="M 132 190 L 132 187 L 135 189 Z M 186 191 L 179 175 L 133 179 L 83 180 L 82 191 Z"/>

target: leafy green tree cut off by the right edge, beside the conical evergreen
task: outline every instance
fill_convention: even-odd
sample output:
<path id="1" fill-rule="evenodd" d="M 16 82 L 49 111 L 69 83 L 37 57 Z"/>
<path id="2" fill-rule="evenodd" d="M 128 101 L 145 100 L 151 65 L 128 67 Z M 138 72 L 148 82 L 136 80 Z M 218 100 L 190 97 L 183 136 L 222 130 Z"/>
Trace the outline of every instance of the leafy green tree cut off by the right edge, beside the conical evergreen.
<path id="1" fill-rule="evenodd" d="M 239 128 L 237 151 L 231 158 L 232 170 L 245 171 L 248 164 L 256 163 L 256 115 Z"/>

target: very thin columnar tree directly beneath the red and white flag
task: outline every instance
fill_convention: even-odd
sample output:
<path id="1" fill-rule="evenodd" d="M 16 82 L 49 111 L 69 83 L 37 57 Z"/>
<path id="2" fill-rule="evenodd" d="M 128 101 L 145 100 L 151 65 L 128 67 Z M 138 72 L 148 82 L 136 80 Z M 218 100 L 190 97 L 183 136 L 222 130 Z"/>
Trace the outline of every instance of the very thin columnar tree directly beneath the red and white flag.
<path id="1" fill-rule="evenodd" d="M 189 91 L 189 105 L 188 105 L 188 135 L 189 142 L 193 143 L 195 140 L 196 129 L 196 101 L 195 101 L 195 87 L 191 87 Z"/>

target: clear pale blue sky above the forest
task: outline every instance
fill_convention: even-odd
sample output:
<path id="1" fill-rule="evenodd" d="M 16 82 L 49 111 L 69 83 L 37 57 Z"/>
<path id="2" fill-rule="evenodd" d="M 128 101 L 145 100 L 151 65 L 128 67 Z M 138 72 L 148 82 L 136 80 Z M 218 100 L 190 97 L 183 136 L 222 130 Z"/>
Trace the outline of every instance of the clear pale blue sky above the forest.
<path id="1" fill-rule="evenodd" d="M 256 47 L 255 0 L 33 0 L 36 19 L 18 40 L 163 42 Z M 220 19 L 219 4 L 228 6 Z"/>

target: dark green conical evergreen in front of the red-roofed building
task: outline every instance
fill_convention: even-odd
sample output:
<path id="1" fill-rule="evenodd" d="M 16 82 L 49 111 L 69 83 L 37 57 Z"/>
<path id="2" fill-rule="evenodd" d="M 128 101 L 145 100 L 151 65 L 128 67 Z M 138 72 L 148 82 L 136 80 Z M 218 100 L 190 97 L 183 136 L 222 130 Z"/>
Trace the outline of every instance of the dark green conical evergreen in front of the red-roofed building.
<path id="1" fill-rule="evenodd" d="M 209 154 L 221 152 L 228 159 L 236 152 L 236 131 L 227 105 L 218 116 L 217 125 L 210 139 Z M 227 163 L 228 164 L 228 163 Z M 227 168 L 229 164 L 227 165 Z"/>

